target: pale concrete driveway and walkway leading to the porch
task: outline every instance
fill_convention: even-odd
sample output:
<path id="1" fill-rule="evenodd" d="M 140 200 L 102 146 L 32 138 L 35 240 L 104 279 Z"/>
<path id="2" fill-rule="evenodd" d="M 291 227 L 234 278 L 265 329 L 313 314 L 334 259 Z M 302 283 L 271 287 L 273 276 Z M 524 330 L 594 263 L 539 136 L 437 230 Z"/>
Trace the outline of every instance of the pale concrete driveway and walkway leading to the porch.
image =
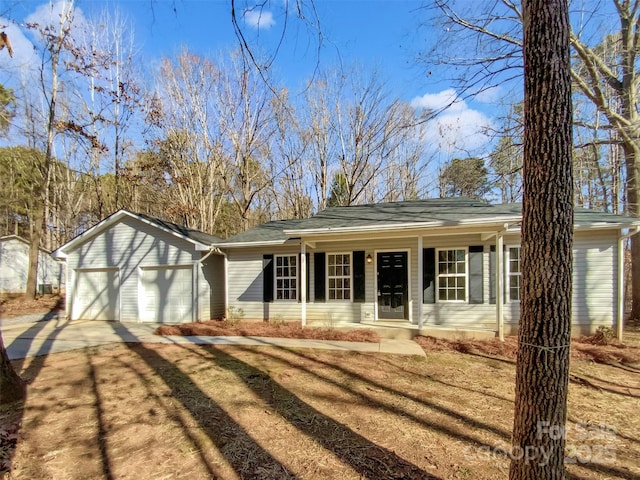
<path id="1" fill-rule="evenodd" d="M 184 337 L 154 335 L 157 324 L 101 321 L 4 320 L 0 326 L 9 358 L 26 358 L 110 343 L 165 343 L 198 345 L 246 345 L 282 348 L 316 348 L 354 352 L 394 353 L 425 356 L 411 340 L 381 339 L 380 343 L 303 340 L 269 337 Z"/>

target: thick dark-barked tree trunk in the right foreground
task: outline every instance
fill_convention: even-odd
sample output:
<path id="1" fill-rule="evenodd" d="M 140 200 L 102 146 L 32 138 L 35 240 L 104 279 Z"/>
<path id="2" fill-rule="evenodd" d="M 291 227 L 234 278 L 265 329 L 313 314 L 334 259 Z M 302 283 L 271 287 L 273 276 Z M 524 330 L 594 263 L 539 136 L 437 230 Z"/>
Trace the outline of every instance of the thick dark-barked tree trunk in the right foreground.
<path id="1" fill-rule="evenodd" d="M 567 0 L 524 0 L 522 298 L 509 478 L 562 479 L 573 246 Z"/>

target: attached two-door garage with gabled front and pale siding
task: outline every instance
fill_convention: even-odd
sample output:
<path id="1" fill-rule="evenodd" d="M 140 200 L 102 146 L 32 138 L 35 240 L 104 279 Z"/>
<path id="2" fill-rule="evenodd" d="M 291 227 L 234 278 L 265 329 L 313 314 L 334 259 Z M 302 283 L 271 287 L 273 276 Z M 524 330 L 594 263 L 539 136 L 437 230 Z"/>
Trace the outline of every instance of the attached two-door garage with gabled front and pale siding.
<path id="1" fill-rule="evenodd" d="M 53 253 L 72 320 L 186 323 L 224 316 L 220 239 L 120 210 Z"/>

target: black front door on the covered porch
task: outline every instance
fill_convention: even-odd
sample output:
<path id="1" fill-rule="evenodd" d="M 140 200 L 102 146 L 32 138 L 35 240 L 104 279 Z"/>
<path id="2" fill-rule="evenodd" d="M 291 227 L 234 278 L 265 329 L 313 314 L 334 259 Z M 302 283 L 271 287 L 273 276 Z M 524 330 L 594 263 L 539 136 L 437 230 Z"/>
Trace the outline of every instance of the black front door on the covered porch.
<path id="1" fill-rule="evenodd" d="M 378 318 L 409 319 L 407 252 L 378 253 Z"/>

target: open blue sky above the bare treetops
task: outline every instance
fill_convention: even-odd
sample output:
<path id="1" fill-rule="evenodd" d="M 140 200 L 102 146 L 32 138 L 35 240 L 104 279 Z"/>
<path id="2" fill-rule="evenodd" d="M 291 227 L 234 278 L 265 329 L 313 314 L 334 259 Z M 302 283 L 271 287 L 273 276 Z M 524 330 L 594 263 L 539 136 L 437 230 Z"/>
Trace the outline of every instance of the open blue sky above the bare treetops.
<path id="1" fill-rule="evenodd" d="M 246 4 L 237 0 L 239 6 Z M 283 4 L 284 0 L 272 0 L 261 16 L 249 13 L 243 18 L 241 25 L 252 46 L 273 53 L 283 31 Z M 294 0 L 289 4 L 295 4 Z M 19 28 L 20 23 L 48 5 L 47 1 L 35 0 L 17 3 L 9 12 L 9 18 L 18 24 L 12 28 Z M 431 41 L 430 30 L 420 28 L 427 16 L 422 5 L 420 0 L 316 0 L 324 37 L 322 50 L 317 51 L 316 31 L 295 15 L 290 16 L 273 74 L 295 95 L 318 65 L 330 68 L 340 62 L 346 66 L 355 62 L 363 68 L 377 69 L 386 79 L 391 97 L 416 108 L 440 108 L 455 99 L 456 92 L 437 74 L 427 75 L 427 67 L 416 62 L 418 53 L 424 52 Z M 118 9 L 132 22 L 144 67 L 151 74 L 162 56 L 175 56 L 183 48 L 200 55 L 219 55 L 238 45 L 230 0 L 76 0 L 76 7 L 86 17 L 99 15 L 104 9 Z M 238 13 L 242 16 L 243 12 Z M 0 20 L 9 23 L 8 19 Z M 18 32 L 9 33 L 15 40 L 14 47 L 20 44 Z M 29 51 L 28 36 L 23 39 L 22 48 L 18 45 L 14 50 Z M 13 63 L 19 62 L 14 58 Z M 486 137 L 481 132 L 493 125 L 491 117 L 499 96 L 499 90 L 494 90 L 479 100 L 457 101 L 432 122 L 429 141 L 443 151 L 444 157 L 474 149 L 487 153 Z M 461 145 L 453 147 L 454 139 Z"/>

